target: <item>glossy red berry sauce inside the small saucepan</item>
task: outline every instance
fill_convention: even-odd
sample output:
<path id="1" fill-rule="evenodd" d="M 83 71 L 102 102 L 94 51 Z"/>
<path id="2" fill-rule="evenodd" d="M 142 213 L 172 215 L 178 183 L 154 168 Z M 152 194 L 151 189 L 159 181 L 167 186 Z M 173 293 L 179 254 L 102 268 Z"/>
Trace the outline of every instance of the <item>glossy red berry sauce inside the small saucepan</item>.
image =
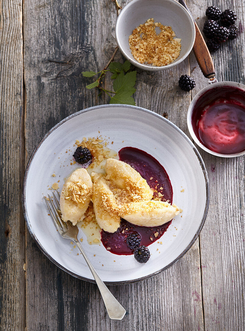
<path id="1" fill-rule="evenodd" d="M 244 151 L 245 92 L 230 86 L 209 90 L 194 107 L 192 127 L 198 140 L 211 151 Z"/>

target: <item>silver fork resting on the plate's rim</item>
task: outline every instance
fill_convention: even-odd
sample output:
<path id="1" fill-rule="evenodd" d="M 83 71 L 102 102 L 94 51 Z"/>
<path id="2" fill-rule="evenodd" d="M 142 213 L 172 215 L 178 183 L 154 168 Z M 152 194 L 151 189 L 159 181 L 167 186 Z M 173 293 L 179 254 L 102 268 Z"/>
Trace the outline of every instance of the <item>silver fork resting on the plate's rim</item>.
<path id="1" fill-rule="evenodd" d="M 56 190 L 57 195 L 60 199 L 60 193 Z M 48 194 L 49 197 L 49 201 L 51 204 L 51 207 L 48 203 L 48 200 L 45 198 L 47 207 L 49 209 L 50 215 L 55 223 L 55 226 L 57 228 L 57 230 L 60 232 L 61 236 L 67 239 L 72 239 L 75 241 L 77 247 L 79 248 L 79 250 L 81 251 L 85 261 L 87 262 L 93 276 L 94 279 L 99 287 L 99 290 L 101 292 L 102 295 L 102 299 L 104 301 L 107 313 L 110 317 L 110 319 L 114 319 L 114 320 L 121 320 L 123 319 L 123 316 L 126 313 L 126 310 L 122 307 L 122 305 L 119 304 L 119 302 L 116 300 L 116 298 L 110 293 L 110 291 L 108 290 L 108 288 L 105 286 L 105 284 L 102 282 L 102 279 L 100 278 L 100 276 L 98 275 L 98 273 L 96 272 L 95 268 L 93 267 L 92 263 L 90 262 L 90 260 L 88 259 L 86 253 L 84 252 L 81 244 L 79 243 L 78 239 L 77 239 L 77 234 L 78 234 L 78 227 L 76 225 L 72 225 L 70 221 L 68 222 L 64 222 L 59 214 L 60 211 L 60 204 L 58 199 L 56 198 L 55 192 L 52 191 L 53 193 L 53 197 L 54 197 L 54 201 L 56 203 L 56 207 L 55 204 L 53 202 L 53 200 L 51 199 L 50 195 Z"/>

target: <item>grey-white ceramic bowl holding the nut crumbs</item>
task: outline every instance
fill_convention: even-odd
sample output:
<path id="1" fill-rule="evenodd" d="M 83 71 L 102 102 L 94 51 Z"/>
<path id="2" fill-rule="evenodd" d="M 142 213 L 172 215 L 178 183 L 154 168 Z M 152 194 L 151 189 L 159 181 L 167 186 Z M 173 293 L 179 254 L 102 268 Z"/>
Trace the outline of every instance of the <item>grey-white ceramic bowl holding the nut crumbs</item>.
<path id="1" fill-rule="evenodd" d="M 153 18 L 155 22 L 171 26 L 177 38 L 181 38 L 179 57 L 171 64 L 156 67 L 135 60 L 129 48 L 129 36 L 140 24 Z M 190 53 L 195 41 L 195 25 L 188 11 L 175 0 L 133 0 L 120 12 L 116 21 L 116 41 L 123 56 L 143 70 L 159 71 L 181 63 Z"/>

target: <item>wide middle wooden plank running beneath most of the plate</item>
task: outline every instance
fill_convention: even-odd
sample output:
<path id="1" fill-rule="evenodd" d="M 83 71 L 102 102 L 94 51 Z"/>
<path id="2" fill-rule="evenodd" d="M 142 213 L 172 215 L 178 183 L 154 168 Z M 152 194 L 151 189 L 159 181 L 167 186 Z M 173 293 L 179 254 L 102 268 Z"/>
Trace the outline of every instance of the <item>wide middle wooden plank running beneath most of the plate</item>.
<path id="1" fill-rule="evenodd" d="M 123 2 L 125 5 L 126 2 Z M 101 70 L 116 43 L 111 1 L 25 1 L 24 77 L 26 162 L 42 136 L 77 110 L 108 103 L 86 90 L 84 70 Z M 104 24 L 107 22 L 107 24 Z M 122 56 L 117 54 L 117 60 Z M 186 59 L 171 71 L 138 70 L 138 106 L 167 113 L 187 132 L 184 109 L 190 93 L 178 87 L 189 72 Z M 106 79 L 105 86 L 111 88 Z M 149 280 L 110 290 L 127 309 L 123 321 L 110 321 L 94 284 L 75 279 L 53 265 L 26 233 L 26 330 L 203 330 L 198 241 L 184 258 Z"/>

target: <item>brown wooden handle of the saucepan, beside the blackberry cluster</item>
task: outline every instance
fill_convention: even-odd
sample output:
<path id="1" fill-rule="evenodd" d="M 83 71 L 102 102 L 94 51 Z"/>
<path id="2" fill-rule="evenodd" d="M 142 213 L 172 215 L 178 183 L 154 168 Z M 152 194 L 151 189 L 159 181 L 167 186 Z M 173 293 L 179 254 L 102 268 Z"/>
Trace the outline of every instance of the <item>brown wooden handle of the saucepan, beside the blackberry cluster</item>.
<path id="1" fill-rule="evenodd" d="M 199 30 L 196 22 L 194 22 L 194 24 L 196 28 L 196 39 L 193 46 L 193 52 L 202 73 L 206 78 L 208 78 L 210 75 L 215 75 L 213 60 L 211 58 L 205 40 L 203 39 L 201 31 Z"/>

